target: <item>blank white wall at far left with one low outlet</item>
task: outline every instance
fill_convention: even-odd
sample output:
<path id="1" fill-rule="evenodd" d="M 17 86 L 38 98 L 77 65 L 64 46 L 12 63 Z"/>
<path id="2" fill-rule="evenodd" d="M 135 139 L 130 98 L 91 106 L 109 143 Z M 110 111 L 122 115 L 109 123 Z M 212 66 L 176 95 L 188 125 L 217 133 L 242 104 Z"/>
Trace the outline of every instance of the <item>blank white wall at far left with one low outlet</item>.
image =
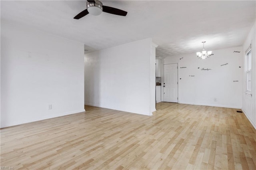
<path id="1" fill-rule="evenodd" d="M 84 111 L 83 63 L 84 44 L 1 20 L 1 127 Z"/>

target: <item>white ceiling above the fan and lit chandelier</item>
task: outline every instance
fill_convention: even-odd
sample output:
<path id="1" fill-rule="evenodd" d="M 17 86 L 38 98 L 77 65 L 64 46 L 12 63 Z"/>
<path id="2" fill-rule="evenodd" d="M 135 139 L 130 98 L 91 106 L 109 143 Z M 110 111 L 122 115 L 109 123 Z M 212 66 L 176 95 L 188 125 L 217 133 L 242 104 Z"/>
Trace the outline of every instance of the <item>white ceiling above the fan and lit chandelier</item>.
<path id="1" fill-rule="evenodd" d="M 256 1 L 101 1 L 127 11 L 75 20 L 85 0 L 0 1 L 1 20 L 85 44 L 88 52 L 152 38 L 167 57 L 243 44 L 255 22 Z"/>

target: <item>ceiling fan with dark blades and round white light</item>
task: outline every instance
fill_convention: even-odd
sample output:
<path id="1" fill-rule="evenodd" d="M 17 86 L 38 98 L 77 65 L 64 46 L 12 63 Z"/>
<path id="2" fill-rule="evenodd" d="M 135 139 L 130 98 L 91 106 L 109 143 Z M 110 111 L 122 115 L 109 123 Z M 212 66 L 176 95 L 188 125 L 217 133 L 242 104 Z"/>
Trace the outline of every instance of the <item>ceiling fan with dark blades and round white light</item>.
<path id="1" fill-rule="evenodd" d="M 86 10 L 83 10 L 79 14 L 77 14 L 74 19 L 80 19 L 87 14 L 92 15 L 100 15 L 103 12 L 107 12 L 114 15 L 120 15 L 120 16 L 126 16 L 127 12 L 123 10 L 119 10 L 117 8 L 104 6 L 100 1 L 98 0 L 87 0 L 86 2 Z"/>

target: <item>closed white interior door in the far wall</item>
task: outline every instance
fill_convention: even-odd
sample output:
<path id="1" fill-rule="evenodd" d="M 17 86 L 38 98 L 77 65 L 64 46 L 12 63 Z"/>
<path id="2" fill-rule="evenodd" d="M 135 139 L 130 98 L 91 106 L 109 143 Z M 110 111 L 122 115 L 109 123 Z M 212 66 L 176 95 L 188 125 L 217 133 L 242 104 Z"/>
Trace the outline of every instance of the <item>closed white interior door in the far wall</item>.
<path id="1" fill-rule="evenodd" d="M 164 101 L 178 103 L 178 64 L 164 64 Z"/>

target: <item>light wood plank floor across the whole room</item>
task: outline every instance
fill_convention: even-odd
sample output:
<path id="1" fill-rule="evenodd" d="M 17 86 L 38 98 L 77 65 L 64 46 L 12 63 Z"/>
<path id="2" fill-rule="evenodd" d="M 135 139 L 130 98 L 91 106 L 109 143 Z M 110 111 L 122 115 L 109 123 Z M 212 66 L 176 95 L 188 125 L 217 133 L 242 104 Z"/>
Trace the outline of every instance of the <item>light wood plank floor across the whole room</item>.
<path id="1" fill-rule="evenodd" d="M 256 170 L 256 130 L 237 109 L 158 103 L 151 117 L 86 106 L 1 129 L 14 169 Z"/>

